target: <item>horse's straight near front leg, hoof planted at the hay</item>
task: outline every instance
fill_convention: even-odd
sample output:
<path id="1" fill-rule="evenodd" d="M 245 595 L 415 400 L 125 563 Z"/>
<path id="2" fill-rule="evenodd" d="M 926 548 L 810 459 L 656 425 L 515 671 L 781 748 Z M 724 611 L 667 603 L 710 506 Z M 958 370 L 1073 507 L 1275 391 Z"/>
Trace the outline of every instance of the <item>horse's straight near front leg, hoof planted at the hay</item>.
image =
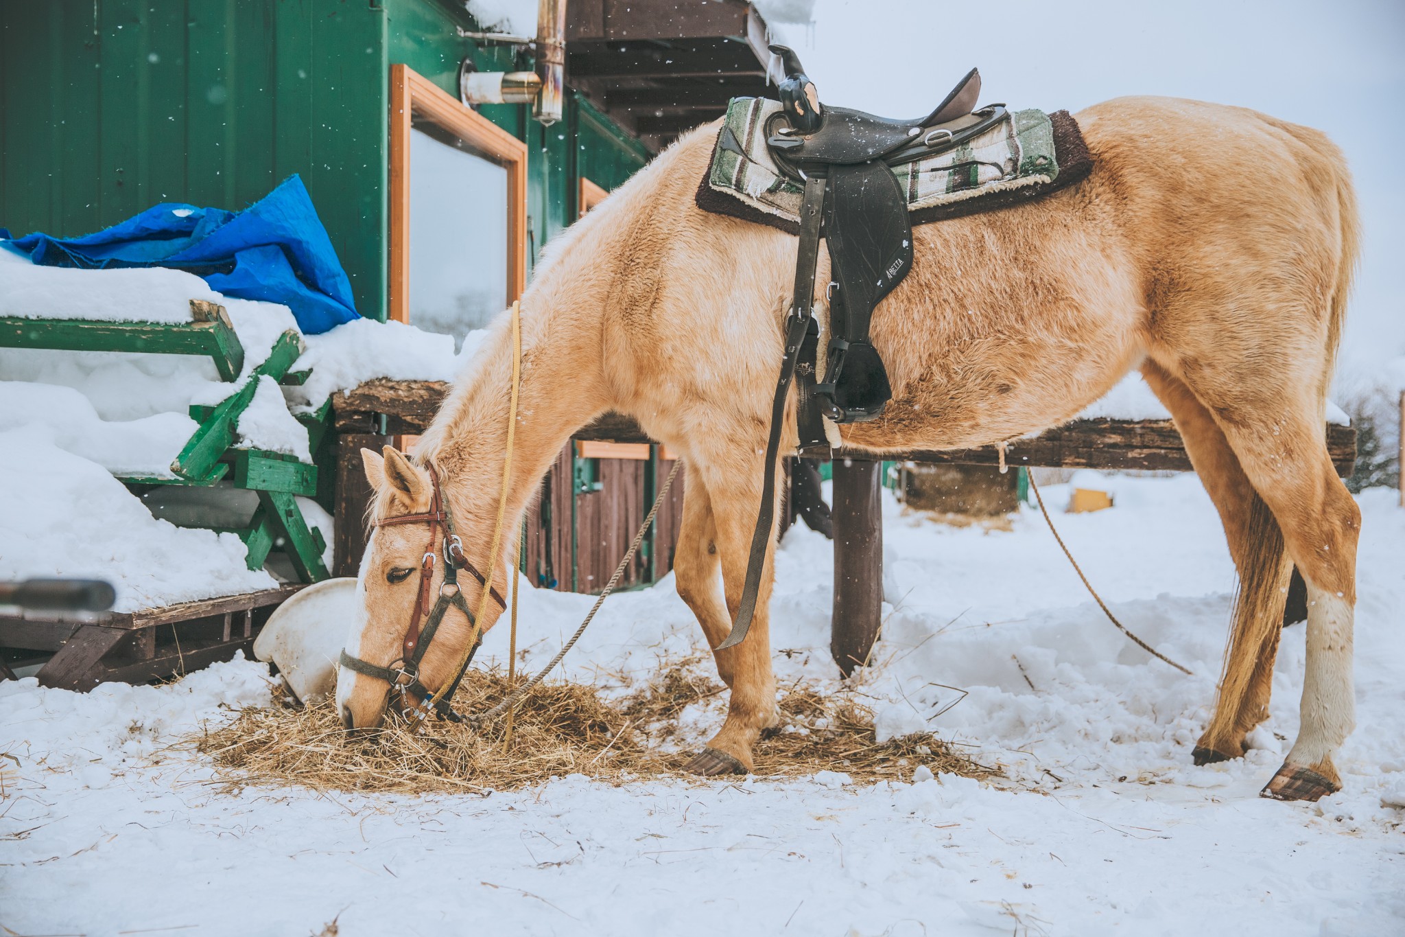
<path id="1" fill-rule="evenodd" d="M 698 615 L 707 631 L 708 642 L 714 648 L 731 631 L 729 622 L 736 620 L 736 611 L 742 603 L 746 562 L 760 507 L 760 459 L 756 459 L 754 466 L 750 461 L 746 465 L 750 471 L 740 471 L 736 478 L 721 478 L 705 469 L 694 471 L 694 466 L 688 465 L 690 490 L 695 478 L 702 478 L 702 483 L 707 486 L 712 518 L 711 544 L 715 545 L 717 558 L 721 561 L 722 584 L 726 593 L 726 631 L 710 627 L 710 622 L 701 614 Z M 729 465 L 728 468 L 738 466 Z M 687 770 L 695 774 L 745 774 L 750 771 L 753 767 L 752 746 L 763 730 L 780 721 L 780 712 L 776 707 L 776 674 L 771 671 L 769 608 L 774 582 L 776 538 L 767 538 L 767 544 L 766 566 L 756 597 L 752 629 L 740 645 L 717 652 L 718 671 L 732 688 L 732 694 L 722 730 L 712 736 L 707 747 L 687 764 Z"/>

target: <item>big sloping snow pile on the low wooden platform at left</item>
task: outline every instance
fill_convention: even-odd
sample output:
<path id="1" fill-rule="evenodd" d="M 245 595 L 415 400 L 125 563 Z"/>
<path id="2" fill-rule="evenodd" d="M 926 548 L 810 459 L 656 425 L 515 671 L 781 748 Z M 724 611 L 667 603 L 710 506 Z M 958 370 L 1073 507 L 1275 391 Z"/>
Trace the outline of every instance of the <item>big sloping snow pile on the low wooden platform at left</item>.
<path id="1" fill-rule="evenodd" d="M 235 534 L 156 520 L 105 468 L 32 433 L 0 433 L 0 579 L 105 579 L 117 611 L 278 584 L 246 568 Z"/>

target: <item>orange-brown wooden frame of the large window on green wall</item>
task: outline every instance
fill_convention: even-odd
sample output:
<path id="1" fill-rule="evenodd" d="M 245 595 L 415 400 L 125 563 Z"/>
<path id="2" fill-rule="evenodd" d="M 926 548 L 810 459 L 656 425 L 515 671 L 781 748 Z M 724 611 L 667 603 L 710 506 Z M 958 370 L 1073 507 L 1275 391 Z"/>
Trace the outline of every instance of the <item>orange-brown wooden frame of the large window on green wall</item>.
<path id="1" fill-rule="evenodd" d="M 507 303 L 527 287 L 527 145 L 407 65 L 391 66 L 391 237 L 386 310 L 410 320 L 410 122 L 420 117 L 507 170 Z"/>

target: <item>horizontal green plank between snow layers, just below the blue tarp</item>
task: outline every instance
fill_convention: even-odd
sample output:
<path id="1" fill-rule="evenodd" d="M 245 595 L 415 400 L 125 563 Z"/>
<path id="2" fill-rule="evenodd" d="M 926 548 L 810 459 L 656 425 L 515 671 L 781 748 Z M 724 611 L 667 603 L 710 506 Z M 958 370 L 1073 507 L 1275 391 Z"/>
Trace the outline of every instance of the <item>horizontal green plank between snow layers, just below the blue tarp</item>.
<path id="1" fill-rule="evenodd" d="M 228 316 L 212 322 L 97 322 L 0 316 L 0 347 L 208 355 L 223 381 L 233 381 L 244 367 L 244 348 Z"/>

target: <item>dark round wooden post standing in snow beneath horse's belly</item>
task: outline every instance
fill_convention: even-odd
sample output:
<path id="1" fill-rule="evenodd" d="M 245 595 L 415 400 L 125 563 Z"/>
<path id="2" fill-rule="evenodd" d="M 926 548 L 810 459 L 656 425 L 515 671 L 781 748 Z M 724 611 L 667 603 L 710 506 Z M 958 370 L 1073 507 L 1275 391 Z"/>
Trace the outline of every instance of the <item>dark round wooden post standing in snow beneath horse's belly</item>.
<path id="1" fill-rule="evenodd" d="M 868 659 L 882 624 L 880 462 L 835 459 L 835 604 L 829 650 L 846 677 Z"/>

